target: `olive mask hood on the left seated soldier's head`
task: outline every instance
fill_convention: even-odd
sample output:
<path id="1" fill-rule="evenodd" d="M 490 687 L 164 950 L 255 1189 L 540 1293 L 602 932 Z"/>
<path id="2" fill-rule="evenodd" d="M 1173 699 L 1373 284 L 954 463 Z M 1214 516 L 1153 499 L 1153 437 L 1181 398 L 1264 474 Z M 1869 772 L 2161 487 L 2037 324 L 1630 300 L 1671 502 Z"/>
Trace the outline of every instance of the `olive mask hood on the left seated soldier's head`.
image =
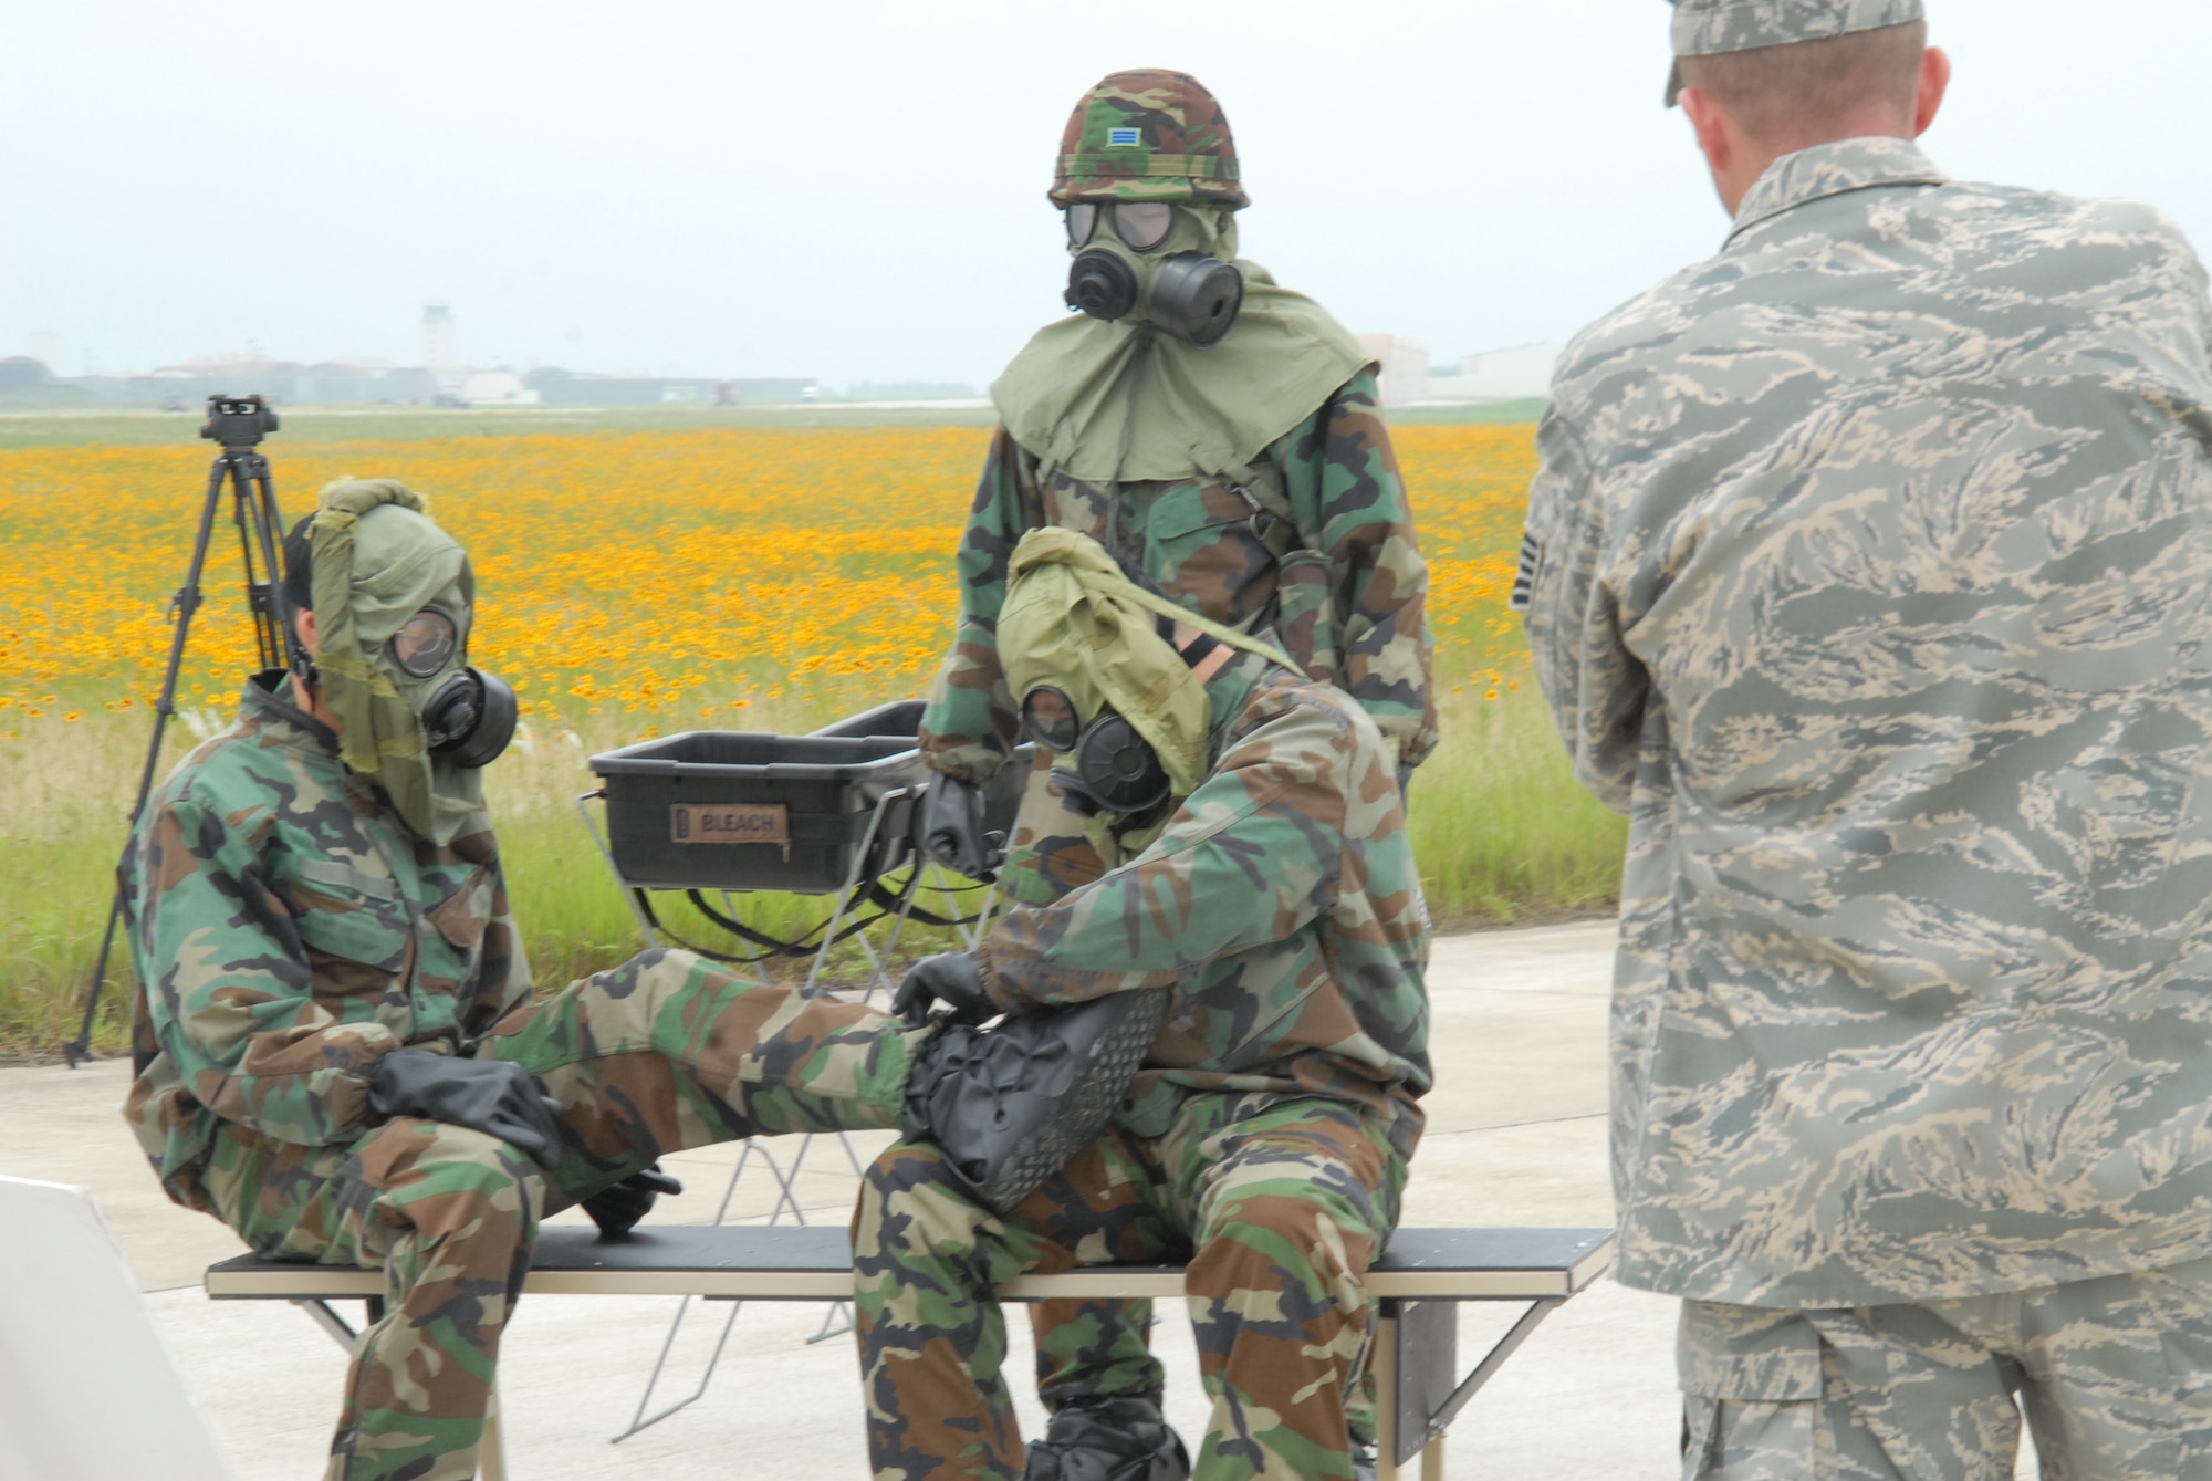
<path id="1" fill-rule="evenodd" d="M 338 480 L 316 497 L 314 621 L 323 703 L 338 716 L 338 754 L 376 780 L 422 838 L 449 844 L 484 807 L 482 774 L 434 756 L 422 705 L 467 661 L 476 579 L 469 555 L 422 513 L 422 495 L 392 480 Z M 447 612 L 460 643 L 447 668 L 418 679 L 389 641 L 422 608 Z"/>

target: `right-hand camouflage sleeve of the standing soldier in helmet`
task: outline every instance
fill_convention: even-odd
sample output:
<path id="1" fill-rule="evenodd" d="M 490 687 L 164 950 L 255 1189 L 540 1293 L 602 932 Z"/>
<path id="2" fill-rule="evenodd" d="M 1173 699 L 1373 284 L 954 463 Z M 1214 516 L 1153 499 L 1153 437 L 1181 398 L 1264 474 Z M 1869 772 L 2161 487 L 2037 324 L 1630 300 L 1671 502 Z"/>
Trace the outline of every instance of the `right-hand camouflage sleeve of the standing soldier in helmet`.
<path id="1" fill-rule="evenodd" d="M 1429 566 L 1398 477 L 1374 371 L 1360 371 L 1283 449 L 1298 528 L 1329 561 L 1340 623 L 1336 687 L 1358 701 L 1398 765 L 1436 749 Z"/>

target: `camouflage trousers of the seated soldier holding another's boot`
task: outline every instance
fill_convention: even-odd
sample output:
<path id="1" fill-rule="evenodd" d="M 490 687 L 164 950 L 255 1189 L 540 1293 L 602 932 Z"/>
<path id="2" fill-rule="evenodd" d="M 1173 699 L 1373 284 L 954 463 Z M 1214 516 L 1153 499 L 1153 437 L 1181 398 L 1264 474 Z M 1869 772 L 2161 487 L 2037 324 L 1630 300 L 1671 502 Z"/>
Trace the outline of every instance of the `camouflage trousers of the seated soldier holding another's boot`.
<path id="1" fill-rule="evenodd" d="M 1188 1260 L 1212 1419 L 1197 1481 L 1352 1477 L 1360 1280 L 1398 1216 L 1405 1158 L 1338 1101 L 1194 1094 L 1166 1136 L 1110 1127 L 1013 1214 L 898 1143 L 854 1211 L 854 1313 L 878 1481 L 1006 1481 L 1022 1437 L 991 1289 L 1022 1271 Z"/>

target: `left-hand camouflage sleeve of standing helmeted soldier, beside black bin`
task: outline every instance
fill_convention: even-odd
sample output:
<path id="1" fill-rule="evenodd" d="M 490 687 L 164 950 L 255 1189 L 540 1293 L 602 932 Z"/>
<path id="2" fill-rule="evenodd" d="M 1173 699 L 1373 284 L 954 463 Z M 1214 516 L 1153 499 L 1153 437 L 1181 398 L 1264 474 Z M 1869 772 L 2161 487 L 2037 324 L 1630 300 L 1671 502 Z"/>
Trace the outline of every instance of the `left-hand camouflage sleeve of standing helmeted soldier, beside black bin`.
<path id="1" fill-rule="evenodd" d="M 920 738 L 931 767 L 978 787 L 1013 754 L 1015 716 L 998 665 L 998 610 L 1006 601 L 1006 557 L 1035 524 L 1033 506 L 1022 447 L 1000 427 L 953 557 L 960 621 L 953 648 L 929 685 Z"/>

